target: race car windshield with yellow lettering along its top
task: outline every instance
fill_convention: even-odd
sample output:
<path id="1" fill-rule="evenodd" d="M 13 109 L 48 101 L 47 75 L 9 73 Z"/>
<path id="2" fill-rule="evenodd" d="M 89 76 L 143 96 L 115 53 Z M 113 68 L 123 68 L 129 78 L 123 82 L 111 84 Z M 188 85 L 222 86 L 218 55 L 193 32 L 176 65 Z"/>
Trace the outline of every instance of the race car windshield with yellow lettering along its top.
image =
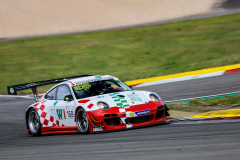
<path id="1" fill-rule="evenodd" d="M 130 90 L 132 89 L 128 85 L 120 80 L 114 79 L 82 83 L 73 86 L 73 91 L 77 99 Z"/>

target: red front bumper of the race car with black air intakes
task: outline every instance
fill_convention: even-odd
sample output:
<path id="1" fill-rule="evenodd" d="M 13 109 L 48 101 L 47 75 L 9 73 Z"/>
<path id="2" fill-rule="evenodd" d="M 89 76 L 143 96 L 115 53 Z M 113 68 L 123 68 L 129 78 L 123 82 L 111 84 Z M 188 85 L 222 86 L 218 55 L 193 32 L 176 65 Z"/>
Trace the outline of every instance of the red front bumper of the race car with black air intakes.
<path id="1" fill-rule="evenodd" d="M 150 101 L 129 108 L 111 107 L 108 111 L 99 109 L 87 114 L 90 132 L 139 127 L 166 121 L 165 106 L 161 101 Z"/>

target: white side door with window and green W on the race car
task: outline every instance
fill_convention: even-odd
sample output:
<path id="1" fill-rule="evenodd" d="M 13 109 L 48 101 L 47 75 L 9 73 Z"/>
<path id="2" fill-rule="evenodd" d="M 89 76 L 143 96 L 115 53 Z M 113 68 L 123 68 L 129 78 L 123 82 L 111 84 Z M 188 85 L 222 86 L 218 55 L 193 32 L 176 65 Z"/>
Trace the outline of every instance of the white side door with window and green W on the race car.
<path id="1" fill-rule="evenodd" d="M 74 100 L 64 101 L 65 96 L 72 96 L 67 84 L 59 85 L 56 91 L 53 115 L 58 120 L 59 126 L 74 126 Z"/>

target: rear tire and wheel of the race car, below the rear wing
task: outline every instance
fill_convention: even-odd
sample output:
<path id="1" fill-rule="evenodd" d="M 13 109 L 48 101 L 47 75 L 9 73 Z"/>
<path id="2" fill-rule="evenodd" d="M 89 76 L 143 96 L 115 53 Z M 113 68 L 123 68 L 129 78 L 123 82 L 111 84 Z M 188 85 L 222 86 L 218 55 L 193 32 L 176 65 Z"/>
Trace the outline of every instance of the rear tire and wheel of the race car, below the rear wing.
<path id="1" fill-rule="evenodd" d="M 28 112 L 28 127 L 33 136 L 41 135 L 41 123 L 38 112 L 32 108 Z"/>

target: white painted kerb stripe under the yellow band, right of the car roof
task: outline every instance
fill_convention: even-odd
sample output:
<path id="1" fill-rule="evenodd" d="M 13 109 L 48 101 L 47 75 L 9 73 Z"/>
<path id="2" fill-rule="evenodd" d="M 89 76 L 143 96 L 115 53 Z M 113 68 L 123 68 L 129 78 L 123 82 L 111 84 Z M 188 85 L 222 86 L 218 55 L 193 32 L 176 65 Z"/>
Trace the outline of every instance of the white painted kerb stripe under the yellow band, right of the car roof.
<path id="1" fill-rule="evenodd" d="M 218 72 L 212 72 L 212 73 L 206 73 L 206 74 L 198 74 L 198 75 L 185 76 L 185 77 L 179 77 L 179 78 L 164 79 L 164 80 L 160 80 L 160 81 L 142 83 L 135 87 L 136 88 L 137 87 L 145 87 L 145 86 L 151 86 L 151 85 L 156 85 L 156 84 L 164 84 L 164 83 L 179 82 L 179 81 L 186 81 L 186 80 L 206 78 L 206 77 L 214 77 L 214 76 L 223 75 L 224 73 L 225 73 L 225 71 L 218 71 Z"/>

